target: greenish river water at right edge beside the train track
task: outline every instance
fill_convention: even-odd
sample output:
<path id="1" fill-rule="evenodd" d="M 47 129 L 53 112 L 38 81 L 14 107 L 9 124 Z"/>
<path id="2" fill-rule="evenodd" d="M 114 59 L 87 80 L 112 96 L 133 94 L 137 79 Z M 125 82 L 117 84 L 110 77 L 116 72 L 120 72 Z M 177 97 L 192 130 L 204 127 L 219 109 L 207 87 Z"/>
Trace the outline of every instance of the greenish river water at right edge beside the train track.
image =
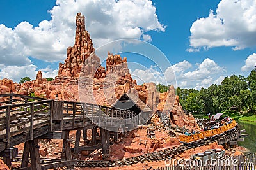
<path id="1" fill-rule="evenodd" d="M 237 121 L 239 124 L 240 129 L 245 129 L 246 134 L 249 136 L 244 138 L 244 141 L 239 142 L 240 146 L 244 146 L 248 148 L 250 152 L 256 153 L 256 123 L 253 122 L 244 122 L 244 121 Z"/>

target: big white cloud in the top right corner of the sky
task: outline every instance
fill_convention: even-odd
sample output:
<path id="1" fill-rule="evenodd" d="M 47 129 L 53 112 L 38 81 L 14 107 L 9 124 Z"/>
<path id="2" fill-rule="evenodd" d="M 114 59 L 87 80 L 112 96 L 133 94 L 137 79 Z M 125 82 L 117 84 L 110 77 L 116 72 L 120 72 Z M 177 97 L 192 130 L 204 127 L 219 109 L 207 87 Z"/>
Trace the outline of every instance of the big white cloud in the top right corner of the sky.
<path id="1" fill-rule="evenodd" d="M 256 1 L 222 0 L 216 12 L 210 10 L 209 17 L 198 18 L 190 29 L 191 48 L 232 46 L 240 50 L 256 45 Z"/>

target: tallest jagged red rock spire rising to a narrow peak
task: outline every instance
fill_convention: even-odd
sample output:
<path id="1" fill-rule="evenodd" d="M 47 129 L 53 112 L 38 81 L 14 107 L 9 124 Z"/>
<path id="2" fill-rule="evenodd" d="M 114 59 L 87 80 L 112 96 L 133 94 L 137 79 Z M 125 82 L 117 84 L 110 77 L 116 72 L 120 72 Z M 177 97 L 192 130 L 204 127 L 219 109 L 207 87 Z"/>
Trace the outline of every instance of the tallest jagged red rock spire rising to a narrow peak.
<path id="1" fill-rule="evenodd" d="M 85 30 L 84 16 L 77 13 L 75 44 L 73 47 L 67 48 L 67 59 L 65 59 L 64 64 L 59 64 L 58 77 L 79 77 L 84 64 L 85 67 L 82 72 L 85 75 L 95 76 L 95 78 L 104 78 L 106 75 L 104 67 L 100 67 L 99 57 L 94 53 L 90 34 Z"/>

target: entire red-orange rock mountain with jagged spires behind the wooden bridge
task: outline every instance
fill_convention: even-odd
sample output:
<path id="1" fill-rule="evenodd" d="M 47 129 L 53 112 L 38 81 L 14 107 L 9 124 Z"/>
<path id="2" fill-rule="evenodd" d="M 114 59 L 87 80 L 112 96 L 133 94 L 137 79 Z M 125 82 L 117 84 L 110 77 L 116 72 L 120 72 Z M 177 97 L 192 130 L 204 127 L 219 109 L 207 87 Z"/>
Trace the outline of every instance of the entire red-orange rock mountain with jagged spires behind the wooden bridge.
<path id="1" fill-rule="evenodd" d="M 18 93 L 47 99 L 68 101 L 81 100 L 78 90 L 82 82 L 84 98 L 88 103 L 111 105 L 124 92 L 136 93 L 153 112 L 157 109 L 163 113 L 172 113 L 172 121 L 177 125 L 196 125 L 192 115 L 186 115 L 175 96 L 175 89 L 170 87 L 168 92 L 159 94 L 154 83 L 137 85 L 129 73 L 127 58 L 119 54 L 108 52 L 106 69 L 100 65 L 100 59 L 95 55 L 92 39 L 85 29 L 84 16 L 76 15 L 76 36 L 74 46 L 67 48 L 67 58 L 64 64 L 59 64 L 58 76 L 55 80 L 47 82 L 42 72 L 38 71 L 36 80 L 22 83 L 13 83 L 12 80 L 0 80 L 0 93 Z M 80 86 L 79 86 L 80 87 Z M 176 97 L 176 99 L 175 99 Z"/>

